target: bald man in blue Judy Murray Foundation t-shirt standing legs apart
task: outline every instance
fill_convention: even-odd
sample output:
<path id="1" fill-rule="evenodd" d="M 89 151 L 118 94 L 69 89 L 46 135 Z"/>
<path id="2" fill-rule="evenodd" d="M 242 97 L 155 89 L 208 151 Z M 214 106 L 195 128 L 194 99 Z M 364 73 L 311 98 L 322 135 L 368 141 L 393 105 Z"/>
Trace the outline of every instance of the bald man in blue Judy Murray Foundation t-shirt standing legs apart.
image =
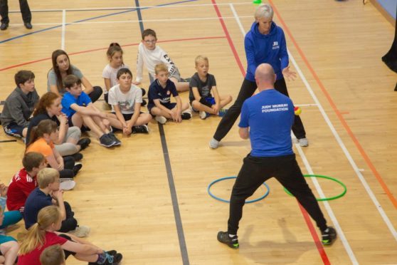
<path id="1" fill-rule="evenodd" d="M 259 93 L 245 100 L 241 109 L 240 137 L 250 138 L 252 151 L 244 158 L 233 186 L 228 231 L 218 232 L 218 241 L 232 249 L 239 247 L 237 230 L 245 199 L 270 177 L 287 188 L 314 219 L 322 233 L 322 244 L 332 244 L 337 238 L 335 229 L 327 226 L 295 159 L 290 135 L 294 105 L 290 98 L 275 90 L 275 80 L 272 66 L 260 64 L 255 71 Z"/>

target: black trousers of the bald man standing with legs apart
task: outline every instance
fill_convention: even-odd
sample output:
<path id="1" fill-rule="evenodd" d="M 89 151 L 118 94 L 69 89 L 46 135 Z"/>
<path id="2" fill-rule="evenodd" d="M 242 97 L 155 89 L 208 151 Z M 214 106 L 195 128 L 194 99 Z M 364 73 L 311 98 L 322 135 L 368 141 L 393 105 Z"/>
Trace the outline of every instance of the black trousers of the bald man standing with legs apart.
<path id="1" fill-rule="evenodd" d="M 287 188 L 314 219 L 321 231 L 327 229 L 319 204 L 307 185 L 305 178 L 295 160 L 295 155 L 282 157 L 253 157 L 248 155 L 243 160 L 238 177 L 231 193 L 228 233 L 237 234 L 238 223 L 243 216 L 245 199 L 250 197 L 260 185 L 270 177 L 275 177 Z"/>

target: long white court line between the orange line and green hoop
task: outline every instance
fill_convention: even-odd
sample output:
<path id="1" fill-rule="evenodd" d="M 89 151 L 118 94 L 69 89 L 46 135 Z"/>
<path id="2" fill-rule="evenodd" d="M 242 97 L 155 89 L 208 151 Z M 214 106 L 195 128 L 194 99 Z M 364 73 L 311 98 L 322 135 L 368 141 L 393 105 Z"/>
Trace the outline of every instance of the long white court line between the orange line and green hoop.
<path id="1" fill-rule="evenodd" d="M 240 20 L 238 19 L 238 16 L 235 17 L 236 21 L 238 23 L 241 23 Z M 243 33 L 245 35 L 245 33 Z M 383 208 L 381 207 L 381 204 L 379 203 L 378 199 L 376 199 L 376 196 L 374 192 L 372 192 L 371 187 L 369 187 L 368 182 L 366 182 L 364 176 L 361 174 L 361 171 L 359 167 L 356 165 L 356 162 L 354 162 L 353 157 L 351 157 L 349 150 L 347 150 L 346 145 L 344 145 L 344 142 L 342 141 L 341 137 L 337 133 L 337 130 L 334 128 L 334 125 L 332 125 L 331 120 L 329 120 L 329 117 L 327 113 L 325 113 L 324 108 L 322 108 L 321 103 L 319 102 L 317 96 L 314 94 L 312 87 L 309 85 L 309 82 L 307 82 L 307 79 L 303 75 L 302 71 L 300 70 L 300 67 L 297 65 L 297 62 L 295 61 L 295 58 L 292 56 L 290 51 L 288 51 L 288 55 L 291 58 L 291 61 L 293 65 L 295 66 L 295 69 L 297 70 L 297 73 L 299 74 L 300 78 L 302 79 L 303 83 L 305 83 L 305 86 L 307 88 L 307 91 L 309 94 L 312 96 L 314 103 L 317 104 L 320 113 L 322 114 L 324 120 L 327 122 L 327 125 L 329 129 L 331 130 L 332 134 L 334 135 L 335 139 L 337 140 L 339 146 L 342 148 L 344 155 L 346 156 L 347 160 L 349 161 L 351 167 L 353 167 L 354 172 L 356 172 L 357 177 L 359 177 L 359 180 L 361 181 L 361 184 L 364 186 L 366 189 L 366 192 L 369 194 L 369 197 L 371 198 L 372 202 L 374 202 L 376 209 L 378 209 L 379 214 L 381 214 L 381 217 L 383 219 L 383 222 L 386 223 L 386 226 L 390 230 L 391 234 L 393 235 L 394 239 L 397 241 L 397 232 L 396 229 L 393 227 L 393 224 L 391 223 L 390 219 L 388 218 L 387 214 L 384 212 Z"/>

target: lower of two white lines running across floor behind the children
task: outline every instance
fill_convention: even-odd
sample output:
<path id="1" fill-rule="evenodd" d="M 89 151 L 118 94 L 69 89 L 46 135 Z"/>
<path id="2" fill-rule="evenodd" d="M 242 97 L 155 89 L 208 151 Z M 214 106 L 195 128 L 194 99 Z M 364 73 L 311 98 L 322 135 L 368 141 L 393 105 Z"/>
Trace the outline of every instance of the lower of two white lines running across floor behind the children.
<path id="1" fill-rule="evenodd" d="M 252 19 L 252 16 L 240 16 L 242 19 Z M 203 21 L 203 20 L 218 20 L 218 16 L 216 17 L 205 17 L 205 18 L 189 18 L 189 19 L 144 19 L 144 20 L 124 20 L 124 21 L 82 21 L 82 22 L 68 22 L 66 25 L 73 25 L 73 24 L 127 24 L 127 23 L 139 23 L 139 22 L 173 22 L 173 21 Z M 224 16 L 222 19 L 234 19 L 233 16 Z M 14 24 L 21 26 L 23 24 Z M 35 23 L 35 26 L 57 26 L 59 23 Z"/>

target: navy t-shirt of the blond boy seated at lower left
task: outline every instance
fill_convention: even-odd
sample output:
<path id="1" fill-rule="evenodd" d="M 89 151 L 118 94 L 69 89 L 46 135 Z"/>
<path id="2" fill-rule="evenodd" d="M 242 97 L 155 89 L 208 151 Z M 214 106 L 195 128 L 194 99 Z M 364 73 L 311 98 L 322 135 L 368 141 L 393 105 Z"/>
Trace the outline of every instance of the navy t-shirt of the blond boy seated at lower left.
<path id="1" fill-rule="evenodd" d="M 38 212 L 50 205 L 53 205 L 53 202 L 49 194 L 46 195 L 38 187 L 33 189 L 33 192 L 26 199 L 25 209 L 23 210 L 23 220 L 25 221 L 26 229 L 36 224 Z"/>

